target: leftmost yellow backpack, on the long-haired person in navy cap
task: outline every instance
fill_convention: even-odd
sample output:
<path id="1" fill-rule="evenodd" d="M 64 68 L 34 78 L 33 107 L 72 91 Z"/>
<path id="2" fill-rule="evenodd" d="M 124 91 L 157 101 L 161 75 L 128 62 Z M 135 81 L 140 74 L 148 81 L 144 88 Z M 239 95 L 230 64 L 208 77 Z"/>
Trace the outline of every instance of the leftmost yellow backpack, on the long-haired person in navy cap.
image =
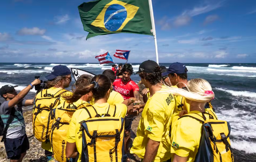
<path id="1" fill-rule="evenodd" d="M 54 109 L 59 105 L 60 95 L 67 90 L 42 90 L 37 94 L 33 107 L 33 134 L 40 142 L 48 142 L 53 125 Z M 54 92 L 54 93 L 53 93 Z"/>

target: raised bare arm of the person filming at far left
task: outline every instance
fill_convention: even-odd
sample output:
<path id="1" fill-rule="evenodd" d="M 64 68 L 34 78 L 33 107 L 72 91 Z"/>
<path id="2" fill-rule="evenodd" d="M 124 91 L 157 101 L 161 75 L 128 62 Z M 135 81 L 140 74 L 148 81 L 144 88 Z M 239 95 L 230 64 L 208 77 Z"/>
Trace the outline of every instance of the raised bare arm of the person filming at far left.
<path id="1" fill-rule="evenodd" d="M 39 79 L 35 79 L 31 84 L 34 86 L 40 83 L 41 81 Z M 8 107 L 14 107 L 16 104 L 18 104 L 20 100 L 22 100 L 30 90 L 31 90 L 31 85 L 28 85 L 26 88 L 20 91 L 20 93 L 17 96 L 15 96 L 15 98 L 9 101 Z"/>

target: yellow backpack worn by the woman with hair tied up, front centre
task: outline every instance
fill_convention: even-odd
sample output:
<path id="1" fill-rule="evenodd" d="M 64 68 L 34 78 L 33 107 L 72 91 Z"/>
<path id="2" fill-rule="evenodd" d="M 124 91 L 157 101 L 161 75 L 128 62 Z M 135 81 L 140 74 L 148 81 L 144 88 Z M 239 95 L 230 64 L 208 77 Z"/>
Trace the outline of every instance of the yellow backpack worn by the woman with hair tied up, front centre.
<path id="1" fill-rule="evenodd" d="M 93 106 L 84 109 L 90 119 L 80 122 L 83 138 L 81 162 L 125 162 L 125 119 L 115 117 L 116 107 L 109 105 L 106 114 L 98 114 Z"/>

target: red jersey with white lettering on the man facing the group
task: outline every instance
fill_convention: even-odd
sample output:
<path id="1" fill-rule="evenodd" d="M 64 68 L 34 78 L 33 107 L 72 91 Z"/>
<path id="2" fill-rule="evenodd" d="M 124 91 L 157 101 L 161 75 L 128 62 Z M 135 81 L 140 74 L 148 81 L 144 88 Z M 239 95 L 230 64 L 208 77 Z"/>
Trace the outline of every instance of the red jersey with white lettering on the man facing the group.
<path id="1" fill-rule="evenodd" d="M 114 91 L 120 93 L 124 100 L 134 97 L 133 92 L 139 91 L 139 86 L 131 79 L 126 83 L 123 83 L 122 78 L 116 79 L 113 83 Z"/>

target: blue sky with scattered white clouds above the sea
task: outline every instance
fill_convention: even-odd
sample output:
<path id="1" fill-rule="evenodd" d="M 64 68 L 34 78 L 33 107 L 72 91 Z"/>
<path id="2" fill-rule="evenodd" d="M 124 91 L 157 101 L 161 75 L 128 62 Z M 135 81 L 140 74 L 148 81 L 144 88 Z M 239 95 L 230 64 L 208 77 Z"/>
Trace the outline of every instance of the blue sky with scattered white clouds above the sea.
<path id="1" fill-rule="evenodd" d="M 88 1 L 2 0 L 0 62 L 97 62 L 116 49 L 131 50 L 129 62 L 155 60 L 152 36 L 85 40 L 77 6 Z M 152 1 L 160 62 L 256 62 L 256 0 Z"/>

